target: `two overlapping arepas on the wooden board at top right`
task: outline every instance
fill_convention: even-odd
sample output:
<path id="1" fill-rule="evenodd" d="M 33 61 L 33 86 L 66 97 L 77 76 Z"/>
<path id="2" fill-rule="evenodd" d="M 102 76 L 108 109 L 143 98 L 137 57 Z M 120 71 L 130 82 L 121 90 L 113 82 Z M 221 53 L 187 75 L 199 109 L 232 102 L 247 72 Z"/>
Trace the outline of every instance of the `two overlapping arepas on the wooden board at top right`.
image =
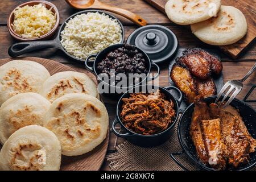
<path id="1" fill-rule="evenodd" d="M 197 38 L 214 46 L 236 43 L 247 32 L 245 15 L 236 7 L 221 5 L 221 0 L 169 0 L 165 10 L 172 22 L 191 24 Z"/>

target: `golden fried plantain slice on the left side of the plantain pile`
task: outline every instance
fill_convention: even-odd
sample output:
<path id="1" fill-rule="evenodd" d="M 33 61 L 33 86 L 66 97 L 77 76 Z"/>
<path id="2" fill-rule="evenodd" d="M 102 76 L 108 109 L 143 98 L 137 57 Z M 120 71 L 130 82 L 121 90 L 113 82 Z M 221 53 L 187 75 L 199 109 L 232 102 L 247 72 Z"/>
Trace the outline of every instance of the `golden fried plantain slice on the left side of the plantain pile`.
<path id="1" fill-rule="evenodd" d="M 192 103 L 197 96 L 196 82 L 187 68 L 180 64 L 174 64 L 171 71 L 171 79 L 177 88 L 185 95 L 185 100 Z"/>

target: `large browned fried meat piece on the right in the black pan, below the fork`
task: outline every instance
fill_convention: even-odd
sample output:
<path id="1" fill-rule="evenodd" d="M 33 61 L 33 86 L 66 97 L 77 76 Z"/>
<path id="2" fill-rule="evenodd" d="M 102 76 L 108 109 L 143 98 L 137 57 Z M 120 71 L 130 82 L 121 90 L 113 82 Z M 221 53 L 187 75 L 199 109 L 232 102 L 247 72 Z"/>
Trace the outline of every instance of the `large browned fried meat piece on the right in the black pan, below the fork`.
<path id="1" fill-rule="evenodd" d="M 228 163 L 237 168 L 249 162 L 249 154 L 255 152 L 256 140 L 249 134 L 242 117 L 232 106 L 221 109 L 217 104 L 210 104 L 212 118 L 221 119 L 222 138 L 228 148 Z"/>

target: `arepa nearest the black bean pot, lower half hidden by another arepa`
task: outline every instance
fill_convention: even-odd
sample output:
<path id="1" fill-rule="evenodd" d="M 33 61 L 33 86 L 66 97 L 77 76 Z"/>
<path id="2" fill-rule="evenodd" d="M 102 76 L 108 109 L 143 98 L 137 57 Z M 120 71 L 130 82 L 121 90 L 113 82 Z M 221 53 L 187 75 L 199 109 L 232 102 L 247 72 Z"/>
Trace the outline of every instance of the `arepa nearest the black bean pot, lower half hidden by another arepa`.
<path id="1" fill-rule="evenodd" d="M 69 93 L 85 93 L 99 98 L 94 81 L 84 73 L 72 71 L 52 75 L 44 82 L 40 91 L 50 102 Z"/>

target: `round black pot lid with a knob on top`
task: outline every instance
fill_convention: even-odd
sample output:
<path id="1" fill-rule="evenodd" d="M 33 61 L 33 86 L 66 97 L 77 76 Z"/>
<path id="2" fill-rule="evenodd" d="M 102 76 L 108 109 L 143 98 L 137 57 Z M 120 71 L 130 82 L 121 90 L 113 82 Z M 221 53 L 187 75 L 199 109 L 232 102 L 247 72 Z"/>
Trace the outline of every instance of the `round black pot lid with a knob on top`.
<path id="1" fill-rule="evenodd" d="M 131 33 L 126 43 L 142 49 L 154 63 L 162 63 L 170 59 L 178 46 L 174 32 L 157 24 L 138 28 Z"/>

